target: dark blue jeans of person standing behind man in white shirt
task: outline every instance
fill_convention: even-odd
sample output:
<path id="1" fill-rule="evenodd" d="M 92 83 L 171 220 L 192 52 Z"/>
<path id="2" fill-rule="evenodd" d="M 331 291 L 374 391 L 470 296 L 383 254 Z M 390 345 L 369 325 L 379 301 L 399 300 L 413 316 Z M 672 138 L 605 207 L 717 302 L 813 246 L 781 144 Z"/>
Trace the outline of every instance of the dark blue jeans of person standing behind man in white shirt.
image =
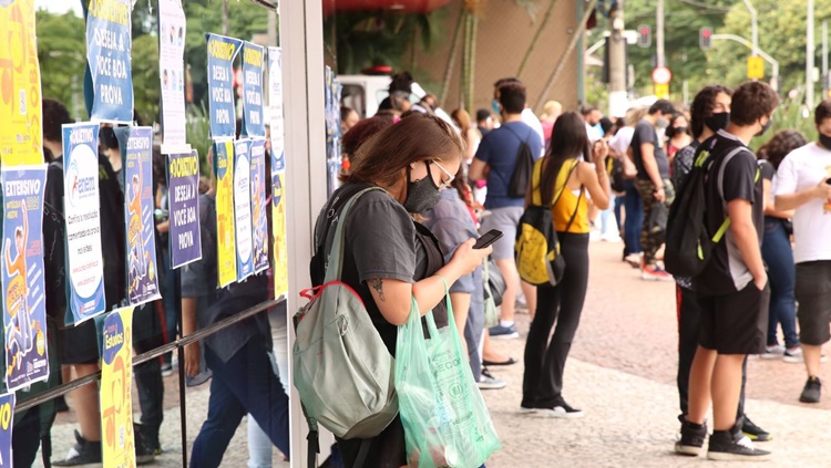
<path id="1" fill-rule="evenodd" d="M 777 325 L 782 325 L 784 345 L 793 347 L 799 344 L 797 335 L 797 300 L 793 287 L 797 281 L 797 270 L 793 264 L 793 251 L 788 232 L 782 220 L 765 217 L 765 240 L 762 242 L 762 259 L 768 267 L 770 281 L 770 318 L 768 320 L 768 345 L 779 343 Z"/>

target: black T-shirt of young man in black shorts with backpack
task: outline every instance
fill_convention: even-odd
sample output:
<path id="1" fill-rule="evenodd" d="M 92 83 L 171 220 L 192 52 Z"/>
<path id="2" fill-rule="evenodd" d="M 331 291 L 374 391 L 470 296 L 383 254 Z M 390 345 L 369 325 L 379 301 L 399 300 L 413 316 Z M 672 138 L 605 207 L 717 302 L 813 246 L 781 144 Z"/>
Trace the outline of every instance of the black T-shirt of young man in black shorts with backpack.
<path id="1" fill-rule="evenodd" d="M 709 152 L 712 166 L 709 169 L 706 188 L 706 223 L 715 233 L 727 218 L 727 205 L 737 199 L 752 205 L 753 225 L 761 245 L 765 235 L 765 204 L 762 179 L 757 174 L 759 162 L 753 152 L 736 136 L 720 131 L 699 146 Z M 753 281 L 753 275 L 745 263 L 736 238 L 730 229 L 712 249 L 712 258 L 700 275 L 694 279 L 695 290 L 705 295 L 725 295 L 743 290 Z"/>

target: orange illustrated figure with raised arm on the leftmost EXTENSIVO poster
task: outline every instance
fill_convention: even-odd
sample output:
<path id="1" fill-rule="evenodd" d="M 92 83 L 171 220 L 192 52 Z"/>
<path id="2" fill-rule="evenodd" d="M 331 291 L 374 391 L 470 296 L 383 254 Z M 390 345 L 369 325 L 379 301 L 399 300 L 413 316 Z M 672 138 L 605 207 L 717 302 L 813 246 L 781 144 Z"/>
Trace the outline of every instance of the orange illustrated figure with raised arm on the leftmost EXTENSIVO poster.
<path id="1" fill-rule="evenodd" d="M 10 239 L 6 240 L 4 249 L 6 271 L 10 279 L 6 290 L 6 304 L 11 318 L 6 329 L 6 350 L 11 360 L 9 361 L 9 374 L 11 374 L 14 367 L 18 371 L 20 370 L 23 361 L 22 356 L 32 350 L 34 345 L 34 334 L 32 331 L 37 326 L 37 323 L 31 323 L 29 316 L 29 284 L 27 284 L 25 271 L 25 243 L 29 238 L 29 217 L 27 215 L 25 201 L 21 201 L 20 211 L 23 226 L 14 229 L 14 247 L 18 251 L 14 260 L 11 259 Z"/>

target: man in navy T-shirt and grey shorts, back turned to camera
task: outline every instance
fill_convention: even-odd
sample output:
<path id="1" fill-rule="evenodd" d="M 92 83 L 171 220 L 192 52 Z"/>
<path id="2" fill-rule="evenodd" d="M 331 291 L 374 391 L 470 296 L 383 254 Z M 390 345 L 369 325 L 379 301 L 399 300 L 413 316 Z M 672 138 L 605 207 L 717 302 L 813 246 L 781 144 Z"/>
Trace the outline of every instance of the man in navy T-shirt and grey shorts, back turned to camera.
<path id="1" fill-rule="evenodd" d="M 514 326 L 514 302 L 521 284 L 530 310 L 535 308 L 536 291 L 520 281 L 513 246 L 529 183 L 527 177 L 522 183 L 519 178 L 530 175 L 534 160 L 543 150 L 540 136 L 523 122 L 525 100 L 525 86 L 519 82 L 510 82 L 499 89 L 502 126 L 482 138 L 469 173 L 471 180 L 488 180 L 484 205 L 490 215 L 482 218 L 480 232 L 496 229 L 504 235 L 493 245 L 493 260 L 507 284 L 500 324 L 490 330 L 493 339 L 520 336 Z"/>

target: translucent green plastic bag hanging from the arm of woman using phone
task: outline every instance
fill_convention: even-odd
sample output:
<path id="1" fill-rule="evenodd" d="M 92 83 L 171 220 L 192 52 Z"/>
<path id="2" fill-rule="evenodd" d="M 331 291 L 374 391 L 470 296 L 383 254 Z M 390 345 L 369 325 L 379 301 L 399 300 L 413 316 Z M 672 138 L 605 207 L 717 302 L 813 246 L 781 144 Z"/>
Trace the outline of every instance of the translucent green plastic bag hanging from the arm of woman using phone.
<path id="1" fill-rule="evenodd" d="M 398 327 L 396 391 L 410 467 L 478 468 L 502 448 L 466 356 L 462 355 L 453 308 L 438 330 L 425 315 L 430 339 L 412 299 L 409 321 Z"/>

